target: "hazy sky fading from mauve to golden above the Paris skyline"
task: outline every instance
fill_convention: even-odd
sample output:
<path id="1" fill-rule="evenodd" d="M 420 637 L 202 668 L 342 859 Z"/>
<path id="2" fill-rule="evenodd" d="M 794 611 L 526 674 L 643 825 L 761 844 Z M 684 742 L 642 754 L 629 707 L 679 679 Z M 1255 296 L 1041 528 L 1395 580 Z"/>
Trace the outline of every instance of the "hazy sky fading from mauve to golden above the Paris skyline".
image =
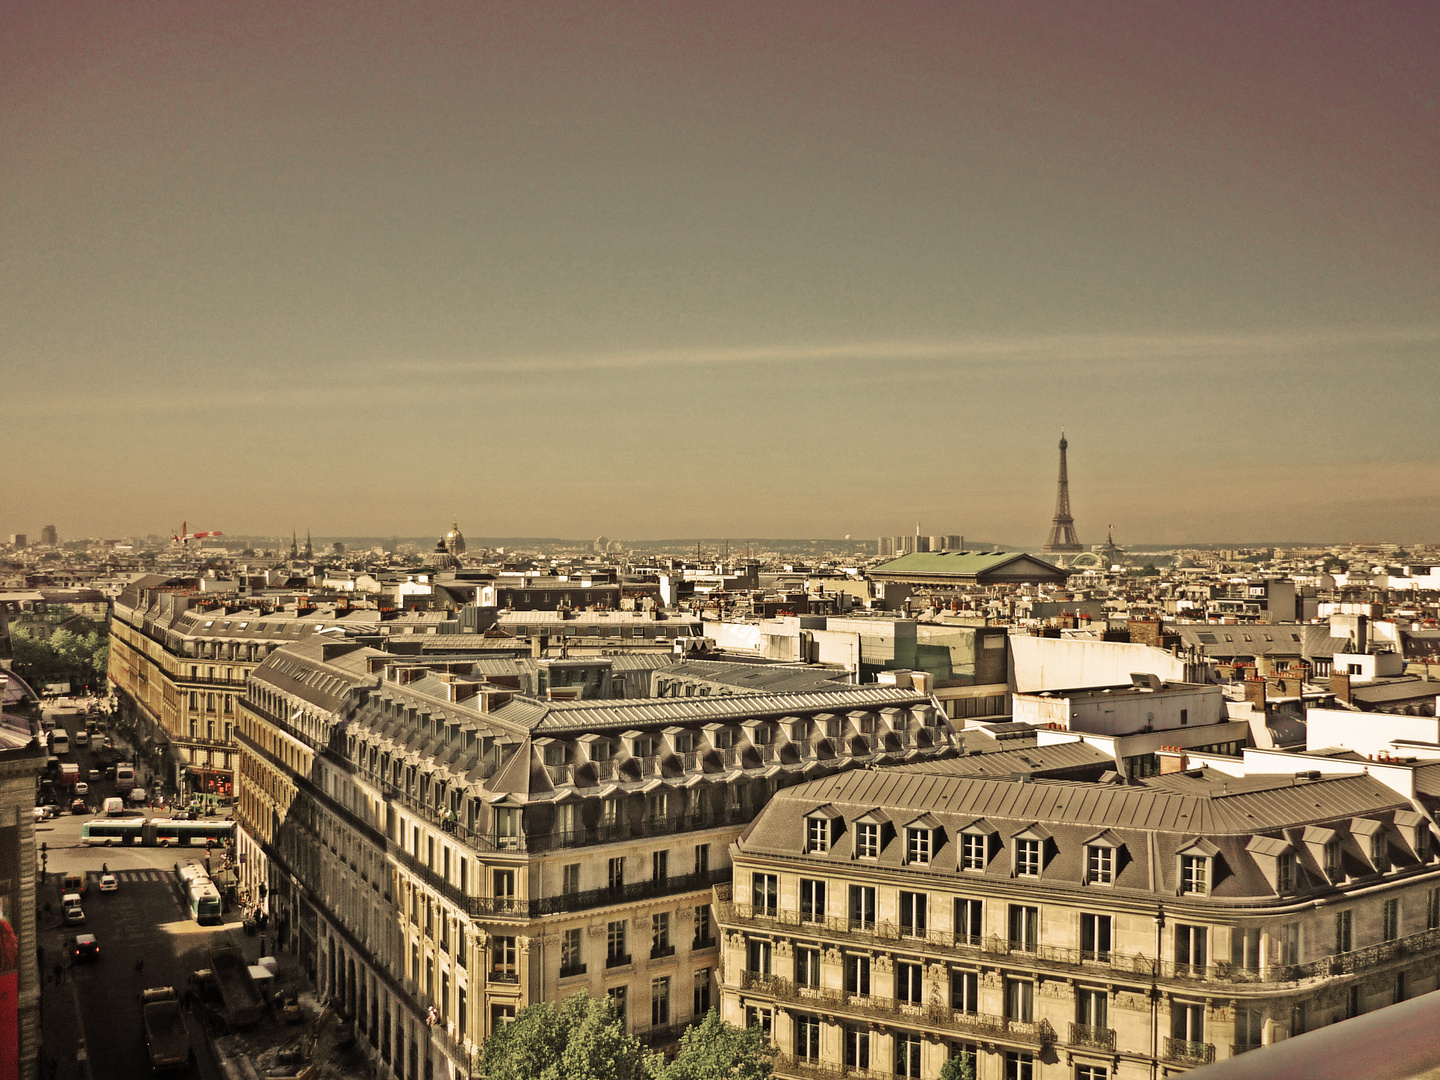
<path id="1" fill-rule="evenodd" d="M 0 13 L 0 531 L 1440 541 L 1440 4 Z"/>

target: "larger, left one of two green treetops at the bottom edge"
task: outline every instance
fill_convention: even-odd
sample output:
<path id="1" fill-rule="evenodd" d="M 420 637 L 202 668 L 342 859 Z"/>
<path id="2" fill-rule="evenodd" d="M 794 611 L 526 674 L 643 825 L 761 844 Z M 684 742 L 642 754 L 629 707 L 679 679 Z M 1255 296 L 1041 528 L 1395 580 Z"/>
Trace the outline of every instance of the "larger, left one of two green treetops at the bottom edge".
<path id="1" fill-rule="evenodd" d="M 660 1068 L 609 998 L 585 994 L 526 1007 L 485 1040 L 475 1064 L 485 1080 L 649 1080 Z"/>

